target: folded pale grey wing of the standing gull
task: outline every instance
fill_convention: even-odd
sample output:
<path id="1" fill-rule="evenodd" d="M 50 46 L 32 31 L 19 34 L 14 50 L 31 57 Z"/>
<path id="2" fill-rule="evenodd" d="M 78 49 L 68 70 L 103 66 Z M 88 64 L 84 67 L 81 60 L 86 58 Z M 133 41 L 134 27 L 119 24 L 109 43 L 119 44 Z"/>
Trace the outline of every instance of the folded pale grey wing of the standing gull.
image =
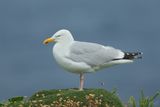
<path id="1" fill-rule="evenodd" d="M 75 62 L 84 62 L 90 66 L 103 65 L 114 59 L 123 58 L 121 50 L 96 43 L 74 42 L 67 58 Z"/>

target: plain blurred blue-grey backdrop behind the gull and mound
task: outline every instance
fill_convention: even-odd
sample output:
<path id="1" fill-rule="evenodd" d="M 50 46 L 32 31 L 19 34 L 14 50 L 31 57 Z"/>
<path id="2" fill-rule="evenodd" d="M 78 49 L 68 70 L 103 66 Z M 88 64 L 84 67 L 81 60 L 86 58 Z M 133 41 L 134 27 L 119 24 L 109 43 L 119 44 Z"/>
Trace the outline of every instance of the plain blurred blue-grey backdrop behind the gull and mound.
<path id="1" fill-rule="evenodd" d="M 144 53 L 132 64 L 87 74 L 86 88 L 116 88 L 124 102 L 138 98 L 141 89 L 153 95 L 160 89 L 159 5 L 159 0 L 1 0 L 0 101 L 79 86 L 79 76 L 55 62 L 53 44 L 42 44 L 64 28 L 75 40 Z"/>

